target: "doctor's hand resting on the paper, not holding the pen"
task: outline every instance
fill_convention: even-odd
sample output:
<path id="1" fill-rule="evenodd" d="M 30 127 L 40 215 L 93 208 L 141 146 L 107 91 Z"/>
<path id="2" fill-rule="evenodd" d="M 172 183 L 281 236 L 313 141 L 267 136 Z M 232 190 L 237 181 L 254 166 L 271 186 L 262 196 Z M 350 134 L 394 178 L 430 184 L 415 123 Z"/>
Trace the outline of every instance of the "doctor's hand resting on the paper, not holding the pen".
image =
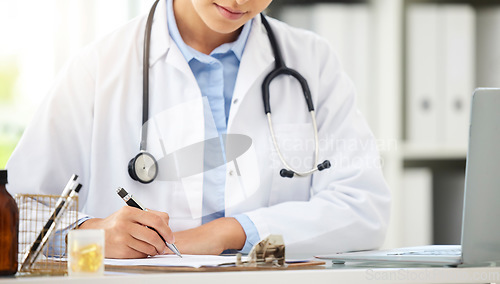
<path id="1" fill-rule="evenodd" d="M 175 246 L 182 254 L 218 255 L 227 249 L 242 249 L 246 241 L 245 231 L 234 218 L 219 218 L 174 235 Z"/>

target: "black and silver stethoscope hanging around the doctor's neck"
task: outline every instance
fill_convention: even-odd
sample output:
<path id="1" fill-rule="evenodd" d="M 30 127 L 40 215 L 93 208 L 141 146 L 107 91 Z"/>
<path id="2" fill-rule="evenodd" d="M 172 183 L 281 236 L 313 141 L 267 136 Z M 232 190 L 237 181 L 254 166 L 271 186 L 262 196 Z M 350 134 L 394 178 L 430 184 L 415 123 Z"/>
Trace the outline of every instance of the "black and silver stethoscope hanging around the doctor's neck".
<path id="1" fill-rule="evenodd" d="M 147 146 L 147 125 L 146 122 L 149 119 L 149 51 L 150 51 L 150 42 L 151 42 L 151 29 L 153 26 L 153 16 L 156 10 L 156 6 L 158 5 L 159 0 L 153 4 L 151 10 L 149 11 L 148 19 L 146 22 L 146 31 L 144 34 L 144 51 L 143 51 L 143 82 L 142 82 L 142 131 L 141 131 L 141 145 L 139 154 L 137 154 L 132 160 L 130 160 L 128 164 L 128 172 L 130 177 L 133 180 L 138 182 L 147 184 L 155 180 L 158 176 L 158 162 L 156 159 L 146 151 Z M 282 177 L 292 178 L 294 176 L 304 177 L 308 176 L 316 171 L 322 171 L 324 169 L 330 168 L 330 161 L 325 160 L 322 163 L 318 164 L 318 156 L 319 156 L 319 138 L 318 138 L 318 126 L 316 124 L 316 114 L 314 111 L 314 105 L 311 98 L 311 91 L 309 90 L 309 85 L 307 81 L 299 72 L 286 67 L 285 62 L 283 61 L 283 57 L 281 55 L 280 48 L 276 41 L 276 37 L 274 36 L 274 32 L 271 29 L 266 17 L 261 14 L 262 23 L 266 28 L 269 41 L 271 43 L 271 47 L 274 53 L 275 59 L 275 67 L 274 69 L 266 76 L 264 82 L 262 83 L 262 99 L 264 101 L 264 110 L 267 116 L 267 122 L 269 125 L 269 130 L 271 132 L 271 138 L 273 140 L 274 147 L 278 153 L 279 159 L 285 166 L 284 169 L 280 171 L 280 175 Z M 280 151 L 278 146 L 278 142 L 276 141 L 276 136 L 274 135 L 273 123 L 271 118 L 271 104 L 269 103 L 269 87 L 274 78 L 281 75 L 289 75 L 297 79 L 302 87 L 302 91 L 304 93 L 304 98 L 306 99 L 307 108 L 309 113 L 311 114 L 311 120 L 314 128 L 314 140 L 315 140 L 315 150 L 314 150 L 314 166 L 312 169 L 308 171 L 297 171 L 292 168 L 283 157 L 283 154 Z"/>

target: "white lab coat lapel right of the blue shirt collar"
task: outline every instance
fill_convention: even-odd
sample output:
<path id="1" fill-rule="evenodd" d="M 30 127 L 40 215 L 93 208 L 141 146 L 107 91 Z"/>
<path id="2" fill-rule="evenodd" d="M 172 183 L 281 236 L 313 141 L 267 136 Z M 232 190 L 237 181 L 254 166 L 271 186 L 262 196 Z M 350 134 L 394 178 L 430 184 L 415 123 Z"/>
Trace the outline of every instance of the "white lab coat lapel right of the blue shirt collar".
<path id="1" fill-rule="evenodd" d="M 262 73 L 269 69 L 269 66 L 274 63 L 273 51 L 266 29 L 262 25 L 260 16 L 253 20 L 252 30 L 247 40 L 247 45 L 241 58 L 238 77 L 233 93 L 233 102 L 242 102 L 248 91 L 262 77 Z M 228 130 L 230 129 L 233 119 L 238 112 L 240 103 L 232 104 L 228 119 Z"/>

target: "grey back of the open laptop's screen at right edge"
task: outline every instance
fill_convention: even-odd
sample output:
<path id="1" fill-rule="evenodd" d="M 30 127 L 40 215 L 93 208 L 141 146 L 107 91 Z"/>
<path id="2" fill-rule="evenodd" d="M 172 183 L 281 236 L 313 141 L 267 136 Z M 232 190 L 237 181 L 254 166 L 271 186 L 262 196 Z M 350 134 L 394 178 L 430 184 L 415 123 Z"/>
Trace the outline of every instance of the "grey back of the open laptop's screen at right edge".
<path id="1" fill-rule="evenodd" d="M 463 262 L 500 262 L 500 89 L 476 89 L 469 135 Z"/>

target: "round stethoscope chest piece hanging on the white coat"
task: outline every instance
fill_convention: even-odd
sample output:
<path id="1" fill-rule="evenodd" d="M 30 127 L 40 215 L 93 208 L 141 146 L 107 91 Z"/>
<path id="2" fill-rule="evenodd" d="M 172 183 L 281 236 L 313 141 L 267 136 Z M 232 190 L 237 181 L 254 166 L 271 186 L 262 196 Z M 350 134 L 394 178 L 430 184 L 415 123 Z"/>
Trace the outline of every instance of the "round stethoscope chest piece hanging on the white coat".
<path id="1" fill-rule="evenodd" d="M 128 163 L 128 173 L 133 180 L 150 183 L 158 175 L 158 162 L 153 155 L 141 151 Z"/>

